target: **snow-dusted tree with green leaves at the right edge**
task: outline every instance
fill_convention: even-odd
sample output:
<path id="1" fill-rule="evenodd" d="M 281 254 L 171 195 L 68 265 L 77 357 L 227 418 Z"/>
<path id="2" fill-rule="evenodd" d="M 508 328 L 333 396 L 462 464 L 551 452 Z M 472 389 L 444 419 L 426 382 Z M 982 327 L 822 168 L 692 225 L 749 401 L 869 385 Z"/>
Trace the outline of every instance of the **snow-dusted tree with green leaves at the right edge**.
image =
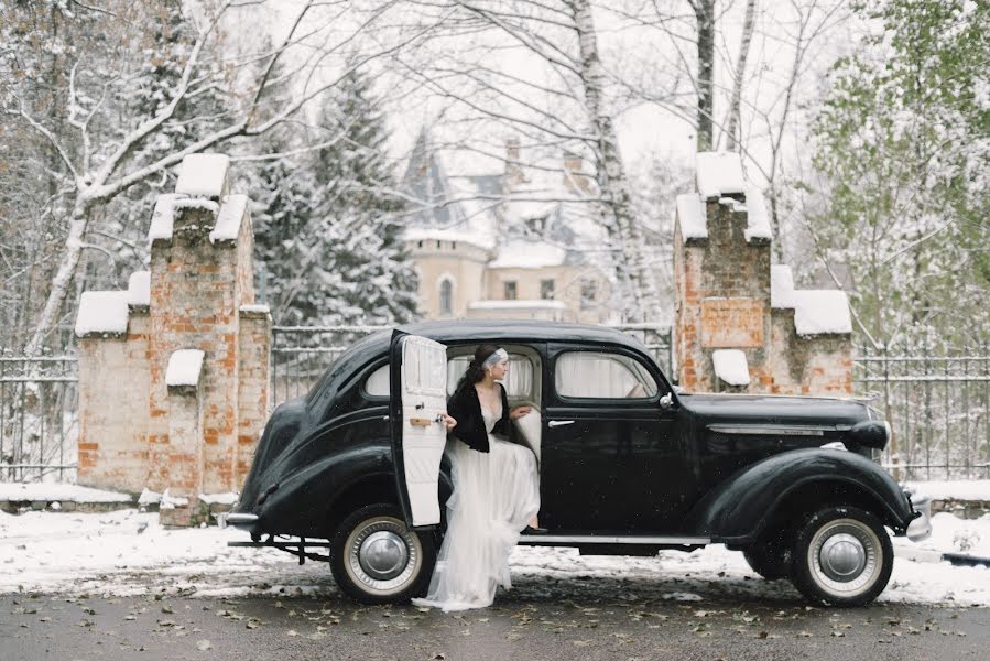
<path id="1" fill-rule="evenodd" d="M 990 8 L 884 0 L 859 11 L 884 30 L 831 73 L 814 124 L 825 205 L 811 226 L 845 262 L 878 342 L 984 344 Z"/>

